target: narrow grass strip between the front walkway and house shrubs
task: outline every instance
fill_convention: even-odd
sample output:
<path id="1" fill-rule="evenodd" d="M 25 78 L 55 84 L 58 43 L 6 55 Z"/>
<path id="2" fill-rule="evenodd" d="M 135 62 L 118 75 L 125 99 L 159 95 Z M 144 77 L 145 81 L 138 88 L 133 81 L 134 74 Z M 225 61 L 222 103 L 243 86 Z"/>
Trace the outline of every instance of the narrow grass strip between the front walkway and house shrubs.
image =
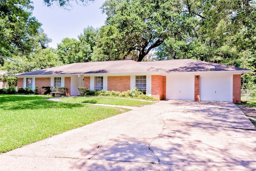
<path id="1" fill-rule="evenodd" d="M 88 96 L 78 96 L 78 97 L 64 97 L 60 98 L 60 101 L 71 101 L 80 103 L 99 103 L 108 105 L 123 105 L 123 106 L 134 106 L 142 107 L 144 105 L 150 105 L 155 102 L 152 101 L 141 101 L 134 99 L 124 99 L 124 98 L 114 98 L 114 97 L 88 97 Z"/>

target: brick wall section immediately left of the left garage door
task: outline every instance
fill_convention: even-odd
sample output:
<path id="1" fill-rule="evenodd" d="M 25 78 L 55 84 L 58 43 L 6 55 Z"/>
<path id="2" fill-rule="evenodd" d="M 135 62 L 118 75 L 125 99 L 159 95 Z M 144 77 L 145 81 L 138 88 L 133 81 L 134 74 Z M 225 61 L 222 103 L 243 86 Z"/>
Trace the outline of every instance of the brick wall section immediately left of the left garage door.
<path id="1" fill-rule="evenodd" d="M 166 99 L 166 76 L 151 76 L 151 94 L 157 99 Z"/>

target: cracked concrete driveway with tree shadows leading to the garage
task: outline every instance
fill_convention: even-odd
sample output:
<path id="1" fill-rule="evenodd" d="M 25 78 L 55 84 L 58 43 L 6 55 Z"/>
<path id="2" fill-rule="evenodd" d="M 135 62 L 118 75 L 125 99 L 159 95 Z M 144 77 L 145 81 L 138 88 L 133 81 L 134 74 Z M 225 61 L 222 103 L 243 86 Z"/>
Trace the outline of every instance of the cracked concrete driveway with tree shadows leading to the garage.
<path id="1" fill-rule="evenodd" d="M 255 170 L 233 103 L 160 101 L 0 155 L 0 170 Z"/>

